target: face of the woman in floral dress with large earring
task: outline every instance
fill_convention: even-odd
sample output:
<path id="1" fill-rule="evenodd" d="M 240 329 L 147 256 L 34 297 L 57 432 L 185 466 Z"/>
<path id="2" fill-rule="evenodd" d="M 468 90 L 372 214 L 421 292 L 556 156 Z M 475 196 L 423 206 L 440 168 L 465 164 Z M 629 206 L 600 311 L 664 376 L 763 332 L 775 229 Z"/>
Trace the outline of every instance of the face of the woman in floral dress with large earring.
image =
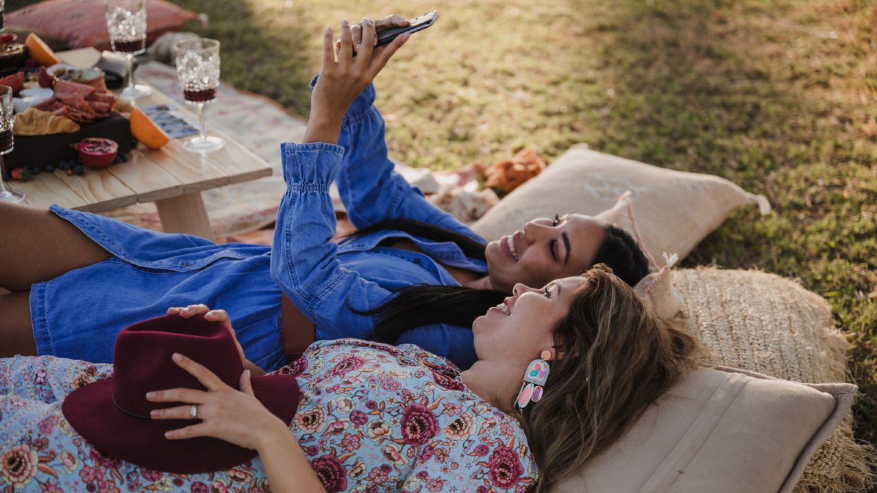
<path id="1" fill-rule="evenodd" d="M 505 298 L 472 324 L 480 361 L 517 361 L 526 365 L 544 349 L 553 351 L 552 330 L 569 311 L 569 300 L 586 280 L 565 277 L 534 289 L 516 284 Z"/>

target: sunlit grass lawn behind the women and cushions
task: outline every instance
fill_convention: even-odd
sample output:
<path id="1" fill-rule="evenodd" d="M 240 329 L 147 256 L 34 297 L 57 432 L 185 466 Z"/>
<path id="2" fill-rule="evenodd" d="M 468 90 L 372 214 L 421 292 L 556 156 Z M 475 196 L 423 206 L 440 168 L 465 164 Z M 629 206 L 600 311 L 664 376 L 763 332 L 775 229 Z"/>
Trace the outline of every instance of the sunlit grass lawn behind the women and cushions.
<path id="1" fill-rule="evenodd" d="M 391 153 L 414 166 L 523 146 L 551 160 L 583 141 L 765 194 L 773 214 L 739 211 L 683 265 L 759 268 L 826 297 L 853 344 L 856 437 L 877 442 L 872 0 L 175 3 L 210 15 L 226 81 L 303 115 L 325 25 L 438 10 L 377 81 Z"/>

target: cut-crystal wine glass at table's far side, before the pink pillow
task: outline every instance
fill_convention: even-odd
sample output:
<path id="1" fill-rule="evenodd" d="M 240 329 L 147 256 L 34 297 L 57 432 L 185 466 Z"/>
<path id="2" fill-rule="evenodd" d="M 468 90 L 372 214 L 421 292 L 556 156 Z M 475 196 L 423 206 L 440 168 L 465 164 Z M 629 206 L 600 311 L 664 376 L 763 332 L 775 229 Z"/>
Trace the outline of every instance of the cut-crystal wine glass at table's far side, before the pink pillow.
<path id="1" fill-rule="evenodd" d="M 128 61 L 128 87 L 125 99 L 140 99 L 153 93 L 149 86 L 134 83 L 132 61 L 135 54 L 146 51 L 146 0 L 103 0 L 107 31 L 112 51 L 124 54 Z"/>

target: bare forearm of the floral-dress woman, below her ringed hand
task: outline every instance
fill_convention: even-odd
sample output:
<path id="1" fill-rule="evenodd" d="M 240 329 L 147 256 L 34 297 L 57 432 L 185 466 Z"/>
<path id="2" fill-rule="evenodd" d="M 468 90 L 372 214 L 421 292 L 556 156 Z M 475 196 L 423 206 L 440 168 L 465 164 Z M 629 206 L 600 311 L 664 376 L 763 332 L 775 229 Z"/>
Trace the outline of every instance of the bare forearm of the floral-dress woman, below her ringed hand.
<path id="1" fill-rule="evenodd" d="M 259 456 L 271 491 L 325 493 L 323 483 L 288 429 L 270 434 L 259 447 Z"/>

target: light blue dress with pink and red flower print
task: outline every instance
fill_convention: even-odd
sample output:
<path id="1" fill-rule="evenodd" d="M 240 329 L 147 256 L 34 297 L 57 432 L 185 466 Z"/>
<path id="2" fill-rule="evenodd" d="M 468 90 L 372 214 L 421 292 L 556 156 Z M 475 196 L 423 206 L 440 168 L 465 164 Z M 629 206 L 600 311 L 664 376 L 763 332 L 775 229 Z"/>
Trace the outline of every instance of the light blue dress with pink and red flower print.
<path id="1" fill-rule="evenodd" d="M 181 475 L 91 447 L 59 402 L 111 373 L 51 356 L 0 359 L 0 491 L 270 491 L 258 458 Z M 328 491 L 523 493 L 536 480 L 517 422 L 466 389 L 453 363 L 418 347 L 320 341 L 277 373 L 298 379 L 289 430 Z"/>

